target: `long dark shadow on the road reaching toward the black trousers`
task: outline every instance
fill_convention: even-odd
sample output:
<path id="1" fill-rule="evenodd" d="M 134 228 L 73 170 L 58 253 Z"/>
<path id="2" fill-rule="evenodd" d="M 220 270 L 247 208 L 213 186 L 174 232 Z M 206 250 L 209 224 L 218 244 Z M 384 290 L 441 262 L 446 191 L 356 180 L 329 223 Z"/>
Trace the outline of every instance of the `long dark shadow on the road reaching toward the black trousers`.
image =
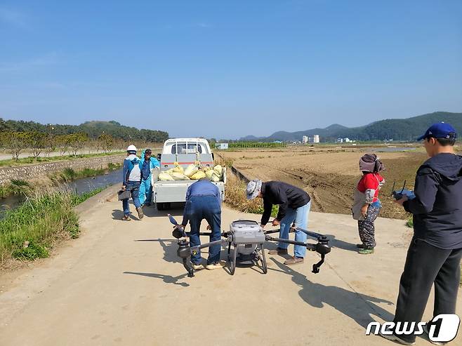
<path id="1" fill-rule="evenodd" d="M 271 260 L 275 262 L 280 270 L 272 268 L 268 268 L 268 270 L 275 270 L 291 275 L 292 281 L 301 288 L 298 294 L 312 307 L 322 308 L 324 304 L 330 305 L 334 307 L 335 310 L 355 320 L 356 323 L 363 328 L 367 328 L 369 322 L 374 321 L 371 314 L 381 317 L 385 321 L 393 320 L 393 315 L 390 314 L 390 312 L 375 304 L 386 302 L 388 305 L 392 305 L 392 302 L 388 300 L 348 291 L 341 287 L 324 286 L 314 283 L 308 280 L 305 275 L 292 270 L 290 267 L 283 265 L 274 258 L 271 258 Z M 358 300 L 358 298 L 360 299 Z M 367 305 L 369 309 L 365 308 L 364 305 Z"/>

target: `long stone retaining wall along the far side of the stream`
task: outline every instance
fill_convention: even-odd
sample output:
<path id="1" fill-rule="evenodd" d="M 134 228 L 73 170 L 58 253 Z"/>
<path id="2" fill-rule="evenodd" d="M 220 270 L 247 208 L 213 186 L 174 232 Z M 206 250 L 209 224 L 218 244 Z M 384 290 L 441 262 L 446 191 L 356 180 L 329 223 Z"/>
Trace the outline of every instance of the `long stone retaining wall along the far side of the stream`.
<path id="1" fill-rule="evenodd" d="M 63 171 L 65 168 L 72 168 L 76 171 L 84 168 L 106 168 L 107 164 L 122 163 L 125 157 L 126 155 L 122 154 L 102 157 L 88 157 L 86 159 L 54 161 L 44 164 L 20 167 L 0 168 L 0 185 L 9 182 L 12 179 L 28 180 L 31 178 L 39 178 L 49 173 Z"/>

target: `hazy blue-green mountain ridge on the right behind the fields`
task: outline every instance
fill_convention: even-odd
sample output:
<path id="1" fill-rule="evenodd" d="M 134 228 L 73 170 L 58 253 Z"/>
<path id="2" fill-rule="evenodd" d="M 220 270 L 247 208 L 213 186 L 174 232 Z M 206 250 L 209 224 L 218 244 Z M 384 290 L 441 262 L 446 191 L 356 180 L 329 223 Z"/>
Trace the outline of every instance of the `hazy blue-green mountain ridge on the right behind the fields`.
<path id="1" fill-rule="evenodd" d="M 272 142 L 273 140 L 282 140 L 284 142 L 301 141 L 303 135 L 319 135 L 322 142 L 331 142 L 336 138 L 345 137 L 351 140 L 414 140 L 424 133 L 428 126 L 439 121 L 450 123 L 458 133 L 462 133 L 462 113 L 434 112 L 407 119 L 385 119 L 353 128 L 333 124 L 326 128 L 313 128 L 306 131 L 277 131 L 266 138 L 256 140 L 263 142 Z M 244 138 L 251 137 L 253 136 Z"/>

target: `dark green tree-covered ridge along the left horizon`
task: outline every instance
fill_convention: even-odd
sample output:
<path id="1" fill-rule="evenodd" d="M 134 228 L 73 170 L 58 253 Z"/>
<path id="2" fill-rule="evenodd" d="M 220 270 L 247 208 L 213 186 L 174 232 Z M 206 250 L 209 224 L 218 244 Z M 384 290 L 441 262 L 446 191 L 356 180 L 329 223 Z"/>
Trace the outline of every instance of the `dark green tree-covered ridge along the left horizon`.
<path id="1" fill-rule="evenodd" d="M 4 120 L 0 118 L 1 131 L 39 131 L 55 135 L 86 133 L 90 138 L 97 138 L 101 133 L 123 140 L 146 140 L 147 142 L 164 142 L 169 138 L 165 131 L 146 130 L 124 126 L 117 121 L 86 121 L 80 125 L 39 124 L 35 121 Z"/>

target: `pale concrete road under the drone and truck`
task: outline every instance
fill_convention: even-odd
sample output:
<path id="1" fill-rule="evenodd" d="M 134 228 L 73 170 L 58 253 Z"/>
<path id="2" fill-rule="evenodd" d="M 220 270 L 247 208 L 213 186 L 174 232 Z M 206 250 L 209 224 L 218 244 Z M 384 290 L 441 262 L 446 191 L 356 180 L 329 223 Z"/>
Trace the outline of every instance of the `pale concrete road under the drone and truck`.
<path id="1" fill-rule="evenodd" d="M 143 220 L 122 222 L 120 203 L 105 201 L 82 215 L 80 239 L 2 276 L 0 345 L 392 345 L 364 331 L 393 317 L 410 239 L 402 221 L 377 220 L 376 253 L 358 255 L 354 220 L 311 213 L 310 229 L 334 237 L 319 274 L 308 253 L 292 267 L 269 256 L 266 275 L 238 267 L 188 278 L 165 215 L 147 208 Z M 223 228 L 239 218 L 259 216 L 225 208 Z M 433 297 L 425 319 L 432 306 Z"/>

